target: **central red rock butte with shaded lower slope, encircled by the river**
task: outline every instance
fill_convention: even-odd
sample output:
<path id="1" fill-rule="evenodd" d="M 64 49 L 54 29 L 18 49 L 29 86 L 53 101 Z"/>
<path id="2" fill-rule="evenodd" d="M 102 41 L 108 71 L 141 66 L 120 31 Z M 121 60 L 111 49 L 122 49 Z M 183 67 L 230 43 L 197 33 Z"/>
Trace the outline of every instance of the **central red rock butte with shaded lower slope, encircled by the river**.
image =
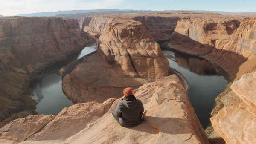
<path id="1" fill-rule="evenodd" d="M 69 72 L 73 66 L 60 70 L 63 92 L 74 103 L 119 98 L 125 87 L 135 89 L 169 75 L 160 46 L 141 22 L 132 19 L 118 18 L 108 24 L 97 53 L 100 57 L 88 56 Z"/>

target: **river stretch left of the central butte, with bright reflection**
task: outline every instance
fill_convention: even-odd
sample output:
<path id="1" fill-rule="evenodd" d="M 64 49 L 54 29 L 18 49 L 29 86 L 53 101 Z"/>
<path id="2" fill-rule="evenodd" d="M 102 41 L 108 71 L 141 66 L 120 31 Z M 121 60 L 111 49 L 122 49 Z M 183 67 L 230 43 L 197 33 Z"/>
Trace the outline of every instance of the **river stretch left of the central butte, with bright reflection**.
<path id="1" fill-rule="evenodd" d="M 96 51 L 97 45 L 85 47 L 81 52 L 69 56 L 65 60 L 54 63 L 49 66 L 41 75 L 31 83 L 31 98 L 35 99 L 38 104 L 36 112 L 44 115 L 58 115 L 64 107 L 70 107 L 73 103 L 64 95 L 61 87 L 61 76 L 58 70 L 66 66 L 73 60 L 79 59 L 84 55 Z"/>

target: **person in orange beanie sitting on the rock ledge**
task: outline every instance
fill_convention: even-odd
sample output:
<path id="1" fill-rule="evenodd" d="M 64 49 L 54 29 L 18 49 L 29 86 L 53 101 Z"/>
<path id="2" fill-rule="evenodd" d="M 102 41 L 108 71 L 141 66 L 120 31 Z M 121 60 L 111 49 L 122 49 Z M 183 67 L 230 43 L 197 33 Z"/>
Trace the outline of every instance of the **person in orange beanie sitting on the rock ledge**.
<path id="1" fill-rule="evenodd" d="M 114 118 L 123 127 L 134 127 L 140 124 L 144 107 L 140 100 L 137 100 L 133 95 L 132 88 L 124 89 L 125 97 L 120 101 L 116 110 L 112 111 Z"/>

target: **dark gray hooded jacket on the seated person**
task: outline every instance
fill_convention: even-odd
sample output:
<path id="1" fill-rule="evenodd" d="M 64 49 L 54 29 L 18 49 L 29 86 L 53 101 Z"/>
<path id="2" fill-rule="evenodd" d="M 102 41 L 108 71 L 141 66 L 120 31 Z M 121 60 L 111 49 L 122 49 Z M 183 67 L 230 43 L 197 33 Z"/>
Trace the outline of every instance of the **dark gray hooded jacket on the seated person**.
<path id="1" fill-rule="evenodd" d="M 115 115 L 119 118 L 119 124 L 123 127 L 134 127 L 140 124 L 140 118 L 144 112 L 143 104 L 140 100 L 120 101 L 115 110 Z"/>

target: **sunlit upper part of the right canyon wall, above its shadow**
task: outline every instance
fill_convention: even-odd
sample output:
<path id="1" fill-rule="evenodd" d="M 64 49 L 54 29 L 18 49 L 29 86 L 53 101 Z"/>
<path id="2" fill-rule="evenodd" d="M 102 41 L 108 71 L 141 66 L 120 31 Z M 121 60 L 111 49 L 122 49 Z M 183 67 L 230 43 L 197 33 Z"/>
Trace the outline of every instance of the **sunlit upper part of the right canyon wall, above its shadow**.
<path id="1" fill-rule="evenodd" d="M 207 19 L 206 19 L 207 20 Z M 246 58 L 256 53 L 255 20 L 180 20 L 175 32 L 216 49 L 233 51 Z M 176 37 L 177 38 L 177 37 Z"/>

